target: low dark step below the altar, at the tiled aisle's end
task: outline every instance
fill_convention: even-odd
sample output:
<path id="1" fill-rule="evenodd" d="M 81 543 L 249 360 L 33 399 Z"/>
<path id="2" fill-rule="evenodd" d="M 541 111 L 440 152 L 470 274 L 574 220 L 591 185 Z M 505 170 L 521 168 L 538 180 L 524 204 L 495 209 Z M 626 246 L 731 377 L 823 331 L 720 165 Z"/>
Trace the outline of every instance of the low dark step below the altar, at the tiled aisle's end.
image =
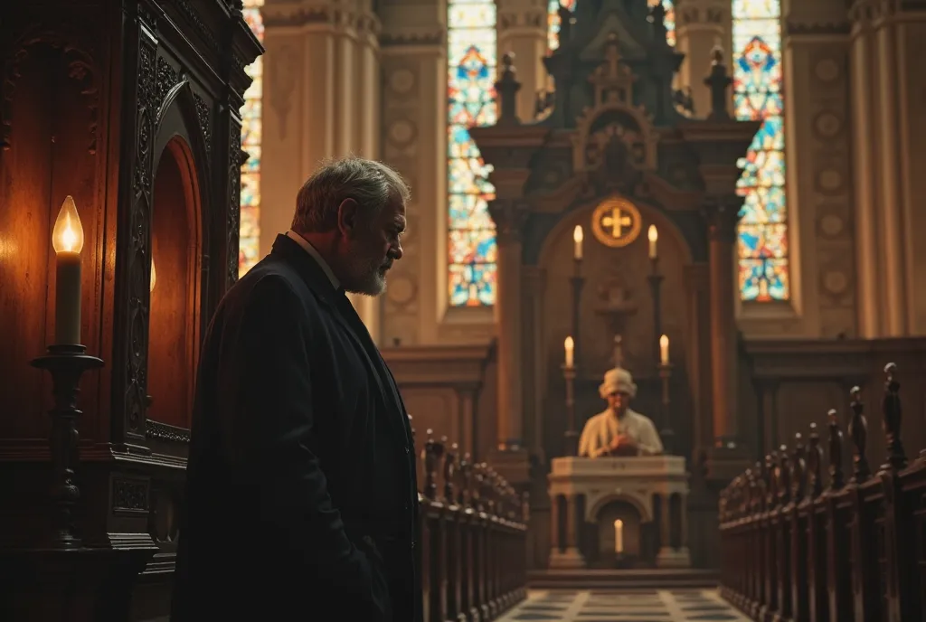
<path id="1" fill-rule="evenodd" d="M 580 568 L 531 570 L 532 590 L 680 590 L 713 589 L 718 570 L 702 568 Z"/>

